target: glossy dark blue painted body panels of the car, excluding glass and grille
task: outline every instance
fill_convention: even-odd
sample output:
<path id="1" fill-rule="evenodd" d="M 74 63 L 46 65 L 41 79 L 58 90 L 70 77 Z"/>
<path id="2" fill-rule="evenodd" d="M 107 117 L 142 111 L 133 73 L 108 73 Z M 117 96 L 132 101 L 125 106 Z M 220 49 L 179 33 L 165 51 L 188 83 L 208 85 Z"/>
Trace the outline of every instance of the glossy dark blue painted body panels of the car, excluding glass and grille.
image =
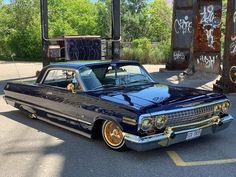
<path id="1" fill-rule="evenodd" d="M 15 107 L 23 111 L 21 105 L 31 106 L 32 112 L 50 121 L 78 129 L 89 135 L 94 124 L 99 119 L 113 120 L 123 131 L 135 135 L 138 125 L 124 123 L 123 117 L 135 119 L 141 114 L 171 110 L 225 99 L 222 94 L 209 91 L 173 87 L 158 83 L 117 87 L 98 91 L 77 92 L 41 84 L 45 72 L 52 68 L 78 70 L 82 66 L 125 63 L 139 65 L 133 61 L 104 61 L 104 62 L 69 62 L 57 63 L 45 67 L 36 83 L 8 83 L 4 89 L 6 100 L 13 100 Z M 48 95 L 48 93 L 51 93 Z"/>

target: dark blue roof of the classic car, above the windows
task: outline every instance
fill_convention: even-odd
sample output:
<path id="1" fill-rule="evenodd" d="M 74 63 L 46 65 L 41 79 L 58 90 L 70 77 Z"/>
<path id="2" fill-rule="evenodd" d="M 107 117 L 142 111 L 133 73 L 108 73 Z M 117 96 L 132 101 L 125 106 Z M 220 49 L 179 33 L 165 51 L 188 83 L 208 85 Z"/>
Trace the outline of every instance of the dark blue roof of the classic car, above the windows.
<path id="1" fill-rule="evenodd" d="M 105 64 L 138 64 L 136 61 L 130 60 L 91 60 L 91 61 L 68 61 L 68 62 L 59 62 L 52 63 L 49 65 L 50 68 L 72 68 L 78 69 L 82 66 L 97 66 L 97 65 L 105 65 Z"/>

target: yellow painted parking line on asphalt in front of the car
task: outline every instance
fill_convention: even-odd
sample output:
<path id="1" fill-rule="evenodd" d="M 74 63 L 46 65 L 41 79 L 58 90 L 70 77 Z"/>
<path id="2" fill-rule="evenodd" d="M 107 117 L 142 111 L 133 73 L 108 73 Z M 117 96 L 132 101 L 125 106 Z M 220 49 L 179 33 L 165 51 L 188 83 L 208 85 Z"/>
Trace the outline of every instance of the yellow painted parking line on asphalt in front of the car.
<path id="1" fill-rule="evenodd" d="M 176 166 L 182 167 L 236 163 L 236 159 L 185 162 L 175 151 L 167 151 L 167 154 L 170 156 Z"/>

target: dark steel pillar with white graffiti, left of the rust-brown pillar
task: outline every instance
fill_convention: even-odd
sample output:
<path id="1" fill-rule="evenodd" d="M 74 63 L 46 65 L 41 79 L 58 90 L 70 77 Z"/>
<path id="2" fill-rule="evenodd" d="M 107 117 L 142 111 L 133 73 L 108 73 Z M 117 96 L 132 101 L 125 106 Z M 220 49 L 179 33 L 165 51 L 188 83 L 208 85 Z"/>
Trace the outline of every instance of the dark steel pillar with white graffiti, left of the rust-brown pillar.
<path id="1" fill-rule="evenodd" d="M 193 37 L 193 1 L 175 0 L 173 5 L 172 57 L 167 69 L 186 69 Z"/>

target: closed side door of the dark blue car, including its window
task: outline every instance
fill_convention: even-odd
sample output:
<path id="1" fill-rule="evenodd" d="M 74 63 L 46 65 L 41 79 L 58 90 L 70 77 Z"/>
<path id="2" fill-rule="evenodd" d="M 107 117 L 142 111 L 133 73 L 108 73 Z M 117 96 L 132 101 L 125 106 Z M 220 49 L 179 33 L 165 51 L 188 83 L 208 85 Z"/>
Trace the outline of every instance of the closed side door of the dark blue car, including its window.
<path id="1" fill-rule="evenodd" d="M 76 76 L 76 70 L 66 68 L 48 71 L 41 83 L 44 104 L 48 109 L 46 117 L 51 121 L 89 131 L 96 113 L 87 109 L 89 98 L 83 93 Z M 74 90 L 69 88 L 70 84 L 75 86 Z"/>

